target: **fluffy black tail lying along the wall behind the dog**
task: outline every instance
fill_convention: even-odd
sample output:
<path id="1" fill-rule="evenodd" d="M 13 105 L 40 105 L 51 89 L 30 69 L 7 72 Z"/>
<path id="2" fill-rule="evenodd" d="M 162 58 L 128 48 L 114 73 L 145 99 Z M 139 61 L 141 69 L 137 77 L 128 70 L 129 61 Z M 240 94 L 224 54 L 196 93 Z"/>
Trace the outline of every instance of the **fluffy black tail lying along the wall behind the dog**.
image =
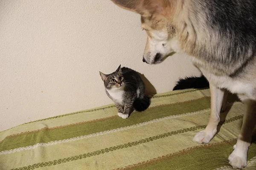
<path id="1" fill-rule="evenodd" d="M 173 91 L 182 90 L 187 88 L 207 88 L 209 87 L 208 80 L 202 75 L 201 77 L 185 77 L 185 79 L 180 78 L 177 81 Z"/>

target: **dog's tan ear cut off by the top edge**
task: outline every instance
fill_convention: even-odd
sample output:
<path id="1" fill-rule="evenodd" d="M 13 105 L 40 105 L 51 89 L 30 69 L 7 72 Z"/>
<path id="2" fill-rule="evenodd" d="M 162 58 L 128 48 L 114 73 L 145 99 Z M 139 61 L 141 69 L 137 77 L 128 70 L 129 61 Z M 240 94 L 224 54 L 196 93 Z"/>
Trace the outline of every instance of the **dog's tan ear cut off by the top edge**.
<path id="1" fill-rule="evenodd" d="M 169 0 L 111 0 L 117 6 L 127 9 L 129 11 L 137 12 L 145 17 L 152 14 L 166 15 L 168 7 L 170 6 Z"/>

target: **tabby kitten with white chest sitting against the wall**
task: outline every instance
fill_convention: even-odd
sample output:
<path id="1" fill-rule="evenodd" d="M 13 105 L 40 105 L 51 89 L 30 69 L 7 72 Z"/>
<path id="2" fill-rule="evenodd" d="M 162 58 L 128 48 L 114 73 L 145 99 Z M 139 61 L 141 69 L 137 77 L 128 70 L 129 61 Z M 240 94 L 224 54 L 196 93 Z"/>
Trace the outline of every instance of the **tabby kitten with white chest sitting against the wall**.
<path id="1" fill-rule="evenodd" d="M 128 118 L 132 111 L 144 111 L 150 105 L 150 99 L 145 96 L 145 86 L 140 75 L 131 68 L 119 65 L 111 74 L 99 72 L 107 95 L 113 100 L 118 110 L 118 116 Z"/>

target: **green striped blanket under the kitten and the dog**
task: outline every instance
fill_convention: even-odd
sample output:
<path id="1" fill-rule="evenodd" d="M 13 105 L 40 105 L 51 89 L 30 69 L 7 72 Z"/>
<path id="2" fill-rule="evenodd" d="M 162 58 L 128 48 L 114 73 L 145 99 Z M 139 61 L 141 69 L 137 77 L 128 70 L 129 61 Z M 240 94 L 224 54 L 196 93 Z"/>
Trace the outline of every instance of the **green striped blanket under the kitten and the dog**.
<path id="1" fill-rule="evenodd" d="M 234 95 L 209 144 L 192 139 L 209 120 L 209 89 L 157 94 L 128 119 L 114 105 L 0 132 L 0 170 L 230 170 L 243 104 Z M 256 170 L 256 135 L 245 170 Z"/>

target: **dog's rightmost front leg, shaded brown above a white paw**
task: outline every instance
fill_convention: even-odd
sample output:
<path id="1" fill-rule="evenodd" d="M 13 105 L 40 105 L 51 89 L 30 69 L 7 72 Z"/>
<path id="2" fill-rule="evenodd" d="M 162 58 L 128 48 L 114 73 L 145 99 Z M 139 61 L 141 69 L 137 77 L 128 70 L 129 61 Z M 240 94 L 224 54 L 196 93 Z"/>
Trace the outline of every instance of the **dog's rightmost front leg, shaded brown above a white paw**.
<path id="1" fill-rule="evenodd" d="M 247 152 L 251 144 L 251 137 L 256 124 L 256 101 L 250 99 L 243 99 L 245 112 L 243 118 L 243 125 L 238 136 L 233 152 L 228 157 L 229 163 L 233 168 L 243 168 L 247 165 Z"/>

